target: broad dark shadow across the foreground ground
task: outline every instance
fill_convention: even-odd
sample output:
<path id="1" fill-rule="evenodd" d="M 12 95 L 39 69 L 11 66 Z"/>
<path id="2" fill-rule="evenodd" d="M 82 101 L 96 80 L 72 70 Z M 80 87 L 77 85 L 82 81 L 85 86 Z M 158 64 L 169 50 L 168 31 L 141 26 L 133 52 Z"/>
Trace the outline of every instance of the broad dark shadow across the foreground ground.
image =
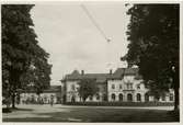
<path id="1" fill-rule="evenodd" d="M 59 112 L 65 109 L 69 112 Z M 21 110 L 21 109 L 20 109 Z M 140 123 L 140 122 L 179 122 L 178 112 L 147 109 L 70 109 L 59 107 L 58 112 L 35 113 L 39 117 L 3 118 L 3 122 L 113 122 L 113 123 Z M 44 116 L 44 117 L 42 117 Z"/>

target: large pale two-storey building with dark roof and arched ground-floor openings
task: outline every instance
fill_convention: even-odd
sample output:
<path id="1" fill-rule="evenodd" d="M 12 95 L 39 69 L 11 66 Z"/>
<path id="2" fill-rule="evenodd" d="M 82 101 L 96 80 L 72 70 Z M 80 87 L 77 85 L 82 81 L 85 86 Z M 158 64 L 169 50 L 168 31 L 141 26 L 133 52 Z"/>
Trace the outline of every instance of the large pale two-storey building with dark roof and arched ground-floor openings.
<path id="1" fill-rule="evenodd" d="M 89 96 L 87 102 L 149 102 L 155 101 L 153 95 L 149 94 L 149 90 L 145 87 L 138 68 L 118 68 L 110 73 L 81 73 L 78 70 L 67 75 L 61 81 L 65 87 L 66 102 L 82 101 L 78 89 L 78 82 L 81 79 L 95 79 L 99 92 L 93 96 Z M 160 96 L 161 102 L 173 102 L 173 90 Z"/>

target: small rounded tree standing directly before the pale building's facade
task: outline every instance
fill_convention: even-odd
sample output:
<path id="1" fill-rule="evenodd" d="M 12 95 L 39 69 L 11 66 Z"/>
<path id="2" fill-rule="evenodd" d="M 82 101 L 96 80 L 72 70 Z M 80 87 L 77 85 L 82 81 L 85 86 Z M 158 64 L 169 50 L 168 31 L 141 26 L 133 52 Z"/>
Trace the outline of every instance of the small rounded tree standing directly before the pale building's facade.
<path id="1" fill-rule="evenodd" d="M 78 92 L 83 102 L 91 95 L 93 96 L 98 92 L 95 79 L 81 79 L 78 84 L 80 86 Z"/>

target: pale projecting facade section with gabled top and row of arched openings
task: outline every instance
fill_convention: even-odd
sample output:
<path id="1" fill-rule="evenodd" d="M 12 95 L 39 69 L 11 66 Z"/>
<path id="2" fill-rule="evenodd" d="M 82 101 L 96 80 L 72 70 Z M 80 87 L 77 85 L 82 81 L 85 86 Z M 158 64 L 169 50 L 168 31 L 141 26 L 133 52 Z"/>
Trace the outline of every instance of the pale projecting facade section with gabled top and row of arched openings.
<path id="1" fill-rule="evenodd" d="M 127 87 L 127 83 L 131 83 L 131 87 Z M 125 76 L 124 79 L 107 80 L 107 93 L 108 101 L 121 101 L 119 94 L 123 94 L 124 102 L 128 101 L 128 94 L 131 94 L 133 102 L 145 102 L 145 88 L 142 80 L 136 80 L 134 76 Z M 115 100 L 112 99 L 112 94 L 115 94 Z M 140 100 L 137 100 L 137 94 L 140 94 Z"/>

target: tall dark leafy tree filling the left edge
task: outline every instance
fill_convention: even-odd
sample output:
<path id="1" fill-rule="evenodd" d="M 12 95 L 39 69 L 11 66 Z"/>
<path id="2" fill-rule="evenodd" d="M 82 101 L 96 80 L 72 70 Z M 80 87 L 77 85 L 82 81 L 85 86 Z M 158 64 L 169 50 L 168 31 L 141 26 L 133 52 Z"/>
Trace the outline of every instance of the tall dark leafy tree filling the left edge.
<path id="1" fill-rule="evenodd" d="M 12 99 L 31 83 L 49 84 L 48 54 L 39 47 L 30 11 L 33 4 L 2 4 L 2 93 Z"/>

